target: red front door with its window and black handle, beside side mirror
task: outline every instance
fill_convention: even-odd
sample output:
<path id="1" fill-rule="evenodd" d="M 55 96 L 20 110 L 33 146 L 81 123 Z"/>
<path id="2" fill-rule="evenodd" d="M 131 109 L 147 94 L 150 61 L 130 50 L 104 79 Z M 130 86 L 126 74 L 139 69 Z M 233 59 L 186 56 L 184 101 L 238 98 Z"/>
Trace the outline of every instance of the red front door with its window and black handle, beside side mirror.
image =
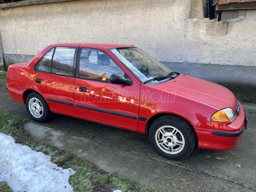
<path id="1" fill-rule="evenodd" d="M 111 74 L 127 76 L 106 52 L 81 48 L 75 80 L 77 116 L 95 122 L 137 129 L 140 84 L 110 83 Z"/>

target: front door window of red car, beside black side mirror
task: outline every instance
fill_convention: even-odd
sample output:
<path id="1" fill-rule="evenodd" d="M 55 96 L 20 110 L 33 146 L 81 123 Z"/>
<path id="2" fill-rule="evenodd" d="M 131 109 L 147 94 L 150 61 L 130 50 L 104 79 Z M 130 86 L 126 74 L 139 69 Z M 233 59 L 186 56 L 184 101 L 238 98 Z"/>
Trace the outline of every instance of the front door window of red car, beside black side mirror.
<path id="1" fill-rule="evenodd" d="M 108 82 L 115 73 L 124 75 L 124 71 L 108 54 L 95 49 L 81 49 L 79 77 Z"/>

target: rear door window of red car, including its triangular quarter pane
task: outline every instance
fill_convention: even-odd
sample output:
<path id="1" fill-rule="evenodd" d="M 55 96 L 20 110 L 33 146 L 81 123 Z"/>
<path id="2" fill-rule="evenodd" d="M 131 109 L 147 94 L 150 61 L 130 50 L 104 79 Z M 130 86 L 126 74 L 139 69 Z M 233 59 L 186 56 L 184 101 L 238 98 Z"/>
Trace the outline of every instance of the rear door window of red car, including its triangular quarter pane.
<path id="1" fill-rule="evenodd" d="M 76 47 L 56 47 L 48 51 L 36 64 L 35 70 L 73 76 Z"/>

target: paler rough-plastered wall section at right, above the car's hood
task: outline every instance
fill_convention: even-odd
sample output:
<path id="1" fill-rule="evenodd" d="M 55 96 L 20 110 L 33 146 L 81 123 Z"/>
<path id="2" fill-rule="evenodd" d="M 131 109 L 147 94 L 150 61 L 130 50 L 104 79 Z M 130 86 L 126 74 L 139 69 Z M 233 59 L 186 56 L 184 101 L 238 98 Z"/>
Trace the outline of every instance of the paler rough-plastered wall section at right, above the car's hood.
<path id="1" fill-rule="evenodd" d="M 184 31 L 189 62 L 256 66 L 256 20 L 189 19 Z"/>

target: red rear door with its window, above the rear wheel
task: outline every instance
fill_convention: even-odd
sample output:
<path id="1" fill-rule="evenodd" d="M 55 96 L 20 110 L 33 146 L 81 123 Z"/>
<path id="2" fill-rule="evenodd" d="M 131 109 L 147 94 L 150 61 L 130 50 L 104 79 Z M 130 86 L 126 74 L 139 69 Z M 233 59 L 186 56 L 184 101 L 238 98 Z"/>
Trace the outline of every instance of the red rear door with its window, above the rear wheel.
<path id="1" fill-rule="evenodd" d="M 74 63 L 77 47 L 54 47 L 31 72 L 33 88 L 47 101 L 52 112 L 76 115 L 74 108 Z"/>

